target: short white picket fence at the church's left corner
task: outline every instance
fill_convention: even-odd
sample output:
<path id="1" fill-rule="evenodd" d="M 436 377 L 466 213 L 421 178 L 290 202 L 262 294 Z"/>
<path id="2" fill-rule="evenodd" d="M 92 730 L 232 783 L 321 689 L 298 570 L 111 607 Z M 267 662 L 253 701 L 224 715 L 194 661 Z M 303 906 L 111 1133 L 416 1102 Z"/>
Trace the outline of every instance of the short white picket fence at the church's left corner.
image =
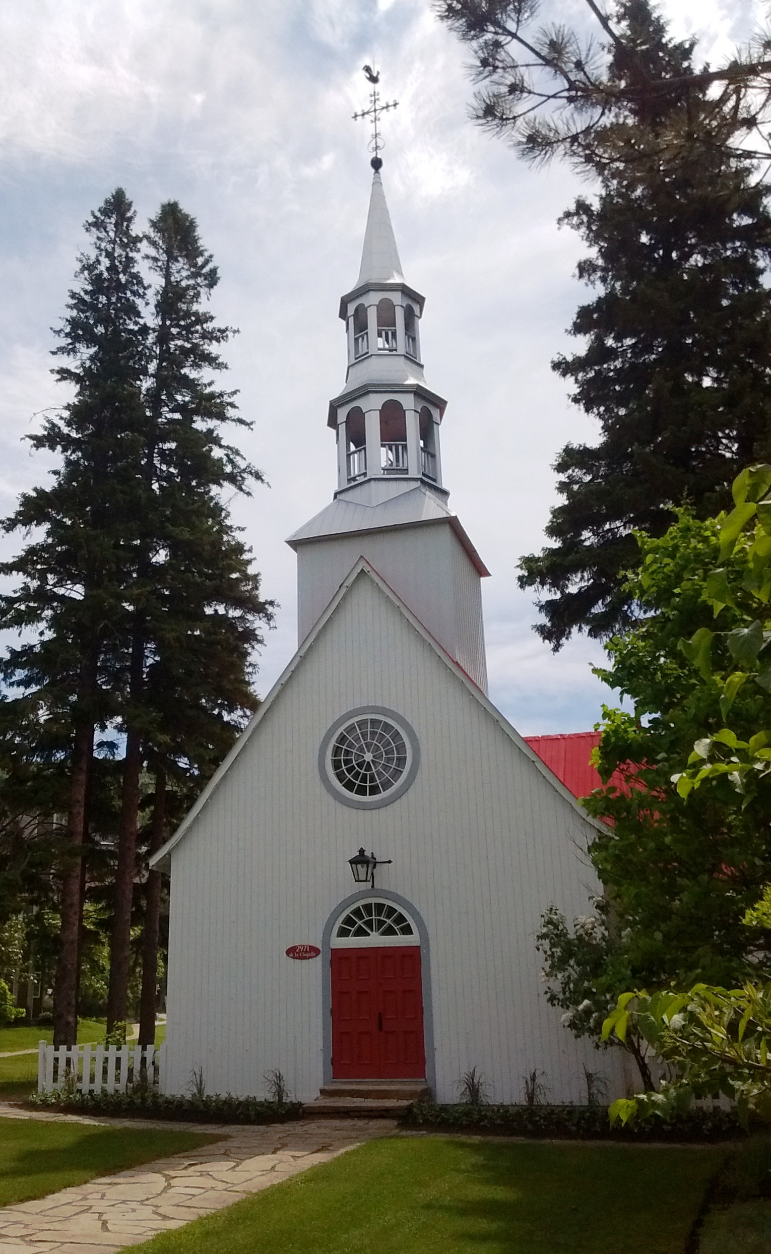
<path id="1" fill-rule="evenodd" d="M 164 1046 L 48 1045 L 38 1046 L 38 1092 L 58 1088 L 123 1093 L 134 1085 L 160 1087 Z"/>

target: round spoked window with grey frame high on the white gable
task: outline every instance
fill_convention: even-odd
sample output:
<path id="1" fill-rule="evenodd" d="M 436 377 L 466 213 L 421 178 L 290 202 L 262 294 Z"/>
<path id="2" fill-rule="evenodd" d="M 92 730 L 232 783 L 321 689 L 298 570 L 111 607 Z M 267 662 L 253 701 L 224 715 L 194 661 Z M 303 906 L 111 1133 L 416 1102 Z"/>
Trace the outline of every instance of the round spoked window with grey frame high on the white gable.
<path id="1" fill-rule="evenodd" d="M 318 754 L 321 777 L 338 801 L 361 809 L 387 805 L 417 770 L 417 740 L 391 710 L 351 710 L 327 731 Z"/>

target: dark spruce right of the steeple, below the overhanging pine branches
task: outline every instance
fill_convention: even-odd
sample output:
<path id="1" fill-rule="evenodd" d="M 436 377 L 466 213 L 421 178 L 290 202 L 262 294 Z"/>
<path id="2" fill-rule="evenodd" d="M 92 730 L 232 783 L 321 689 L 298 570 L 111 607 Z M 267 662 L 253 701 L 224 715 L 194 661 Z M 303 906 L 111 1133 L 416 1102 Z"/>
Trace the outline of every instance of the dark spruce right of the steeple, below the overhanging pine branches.
<path id="1" fill-rule="evenodd" d="M 662 535 L 684 500 L 715 513 L 738 469 L 771 454 L 768 188 L 706 144 L 662 167 L 642 142 L 639 163 L 602 182 L 563 218 L 592 248 L 578 273 L 597 296 L 570 329 L 585 347 L 554 362 L 601 439 L 560 451 L 555 543 L 523 558 L 519 579 L 540 593 L 537 631 L 555 648 L 636 612 L 634 529 Z"/>

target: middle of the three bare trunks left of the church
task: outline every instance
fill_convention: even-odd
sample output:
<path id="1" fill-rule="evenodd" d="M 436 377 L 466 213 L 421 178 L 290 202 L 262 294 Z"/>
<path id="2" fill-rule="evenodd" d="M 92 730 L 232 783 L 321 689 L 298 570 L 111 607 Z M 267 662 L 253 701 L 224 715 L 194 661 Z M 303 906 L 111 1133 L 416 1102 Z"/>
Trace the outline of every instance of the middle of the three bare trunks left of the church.
<path id="1" fill-rule="evenodd" d="M 113 935 L 110 943 L 110 987 L 107 998 L 108 1035 L 117 1023 L 125 1023 L 128 1013 L 128 982 L 132 961 L 132 907 L 134 903 L 134 870 L 137 863 L 137 816 L 139 814 L 139 779 L 142 775 L 142 739 L 129 730 L 123 760 L 123 798 Z"/>

